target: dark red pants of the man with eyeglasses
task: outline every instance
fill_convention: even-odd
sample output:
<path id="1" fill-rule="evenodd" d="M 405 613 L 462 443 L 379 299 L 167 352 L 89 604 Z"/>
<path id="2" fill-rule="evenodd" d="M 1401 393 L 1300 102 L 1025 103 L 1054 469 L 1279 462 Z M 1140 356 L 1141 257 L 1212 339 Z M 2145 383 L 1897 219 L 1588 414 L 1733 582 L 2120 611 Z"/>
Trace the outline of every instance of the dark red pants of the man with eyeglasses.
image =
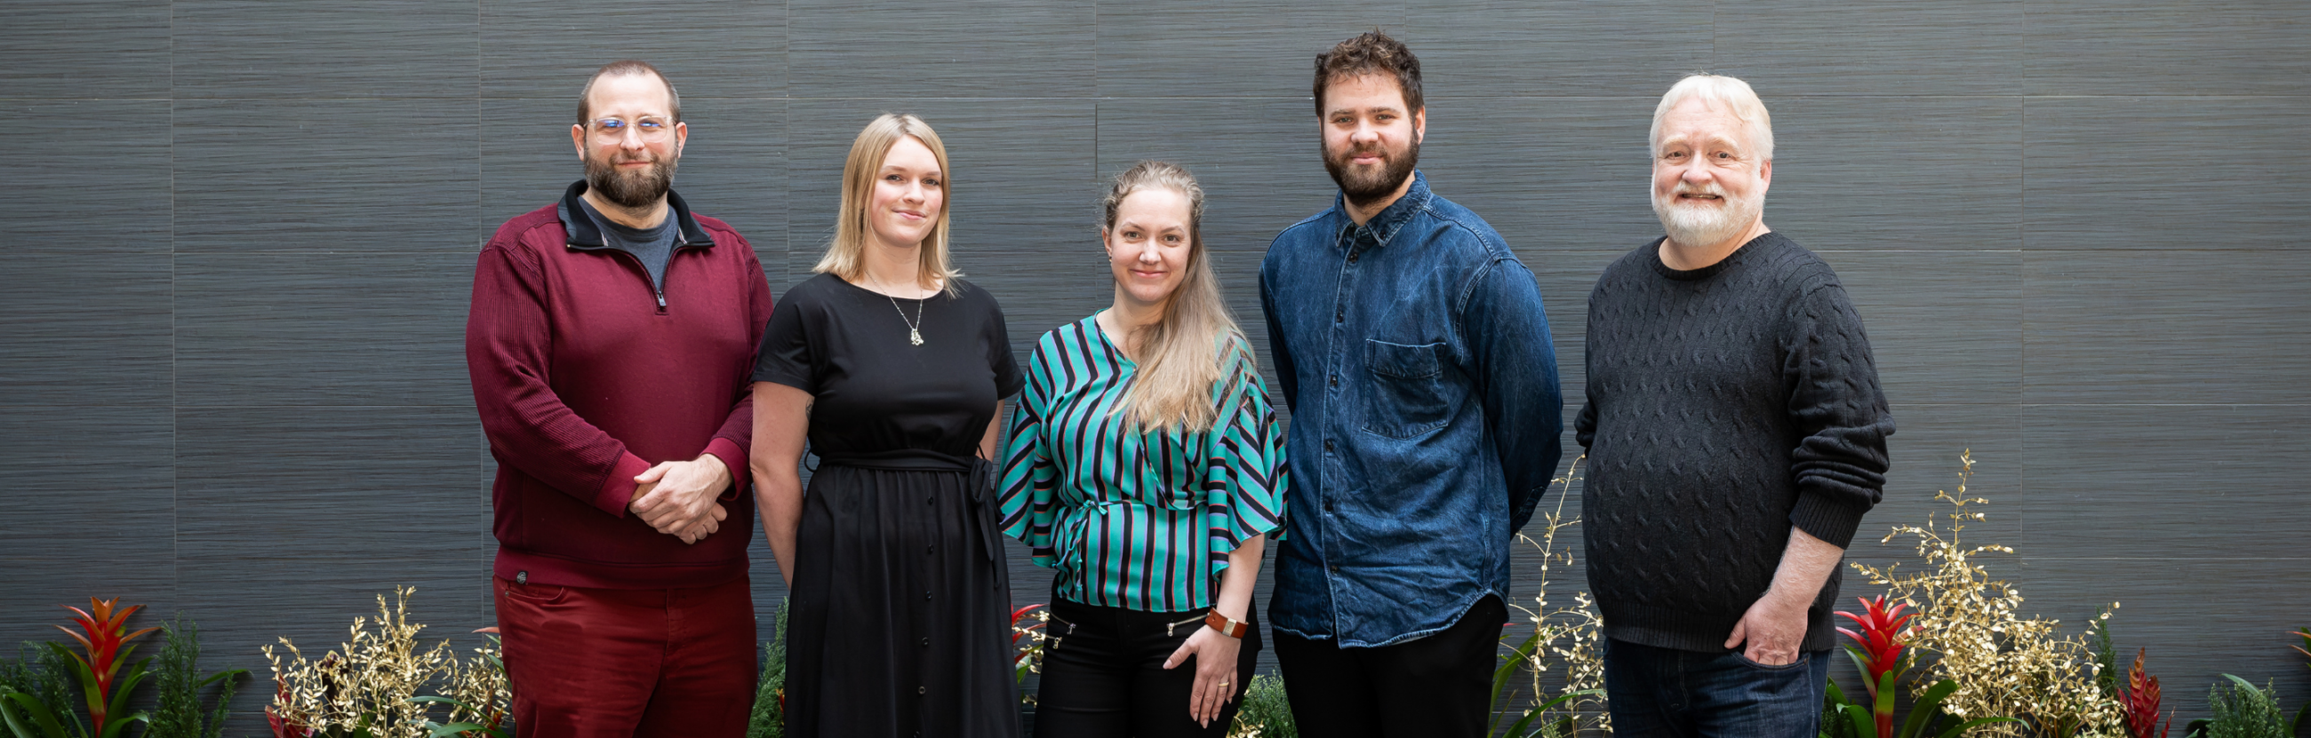
<path id="1" fill-rule="evenodd" d="M 746 736 L 758 643 L 746 579 L 603 590 L 497 579 L 522 736 Z"/>

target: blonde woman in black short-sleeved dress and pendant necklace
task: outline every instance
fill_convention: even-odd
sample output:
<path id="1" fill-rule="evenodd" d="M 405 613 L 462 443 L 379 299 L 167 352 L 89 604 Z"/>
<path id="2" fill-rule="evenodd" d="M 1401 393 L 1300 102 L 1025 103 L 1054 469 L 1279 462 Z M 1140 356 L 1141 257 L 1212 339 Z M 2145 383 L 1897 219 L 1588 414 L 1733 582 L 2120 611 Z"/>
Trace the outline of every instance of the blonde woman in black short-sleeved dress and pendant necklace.
<path id="1" fill-rule="evenodd" d="M 948 152 L 920 118 L 850 143 L 816 272 L 753 371 L 756 498 L 793 588 L 788 736 L 1019 736 L 984 470 L 1021 378 L 1003 309 L 948 263 Z"/>

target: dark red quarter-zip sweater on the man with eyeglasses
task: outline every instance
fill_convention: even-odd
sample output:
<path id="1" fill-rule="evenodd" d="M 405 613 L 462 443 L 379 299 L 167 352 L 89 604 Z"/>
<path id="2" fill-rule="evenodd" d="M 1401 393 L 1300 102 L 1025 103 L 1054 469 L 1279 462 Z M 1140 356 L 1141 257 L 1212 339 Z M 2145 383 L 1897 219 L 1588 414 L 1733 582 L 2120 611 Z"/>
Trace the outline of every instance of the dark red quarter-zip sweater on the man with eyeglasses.
<path id="1" fill-rule="evenodd" d="M 499 226 L 474 268 L 465 357 L 497 457 L 495 572 L 592 588 L 744 577 L 763 265 L 737 231 L 668 194 L 679 238 L 661 291 L 640 258 L 603 242 L 580 194 L 585 182 Z M 626 505 L 633 475 L 700 452 L 730 468 L 728 519 L 682 544 Z"/>

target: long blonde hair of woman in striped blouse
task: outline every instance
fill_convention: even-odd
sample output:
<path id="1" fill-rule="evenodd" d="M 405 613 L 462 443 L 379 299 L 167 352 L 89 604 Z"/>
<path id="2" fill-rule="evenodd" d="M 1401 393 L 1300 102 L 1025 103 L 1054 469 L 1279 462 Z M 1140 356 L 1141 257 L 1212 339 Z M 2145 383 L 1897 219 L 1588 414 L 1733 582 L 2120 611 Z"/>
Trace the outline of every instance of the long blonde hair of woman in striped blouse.
<path id="1" fill-rule="evenodd" d="M 1165 302 L 1162 318 L 1132 327 L 1139 346 L 1139 376 L 1123 394 L 1125 420 L 1142 429 L 1183 427 L 1206 431 L 1218 420 L 1211 390 L 1236 371 L 1259 371 L 1250 341 L 1220 300 L 1220 281 L 1211 274 L 1204 249 L 1204 187 L 1179 164 L 1139 161 L 1116 175 L 1100 201 L 1100 238 L 1116 228 L 1116 210 L 1135 191 L 1165 187 L 1188 198 L 1188 274 Z"/>

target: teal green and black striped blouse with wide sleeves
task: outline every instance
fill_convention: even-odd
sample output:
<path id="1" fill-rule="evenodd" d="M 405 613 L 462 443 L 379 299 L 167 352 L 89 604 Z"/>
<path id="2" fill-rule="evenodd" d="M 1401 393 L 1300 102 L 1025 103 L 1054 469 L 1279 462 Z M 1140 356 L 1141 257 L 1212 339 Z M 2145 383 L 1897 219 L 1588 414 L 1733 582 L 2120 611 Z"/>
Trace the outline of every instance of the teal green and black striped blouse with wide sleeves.
<path id="1" fill-rule="evenodd" d="M 1135 611 L 1213 607 L 1227 554 L 1285 526 L 1285 436 L 1269 385 L 1234 362 L 1209 431 L 1123 417 L 1137 367 L 1098 316 L 1035 341 L 1003 443 L 1003 533 L 1058 570 L 1056 595 Z M 1229 351 L 1248 351 L 1234 339 Z"/>

